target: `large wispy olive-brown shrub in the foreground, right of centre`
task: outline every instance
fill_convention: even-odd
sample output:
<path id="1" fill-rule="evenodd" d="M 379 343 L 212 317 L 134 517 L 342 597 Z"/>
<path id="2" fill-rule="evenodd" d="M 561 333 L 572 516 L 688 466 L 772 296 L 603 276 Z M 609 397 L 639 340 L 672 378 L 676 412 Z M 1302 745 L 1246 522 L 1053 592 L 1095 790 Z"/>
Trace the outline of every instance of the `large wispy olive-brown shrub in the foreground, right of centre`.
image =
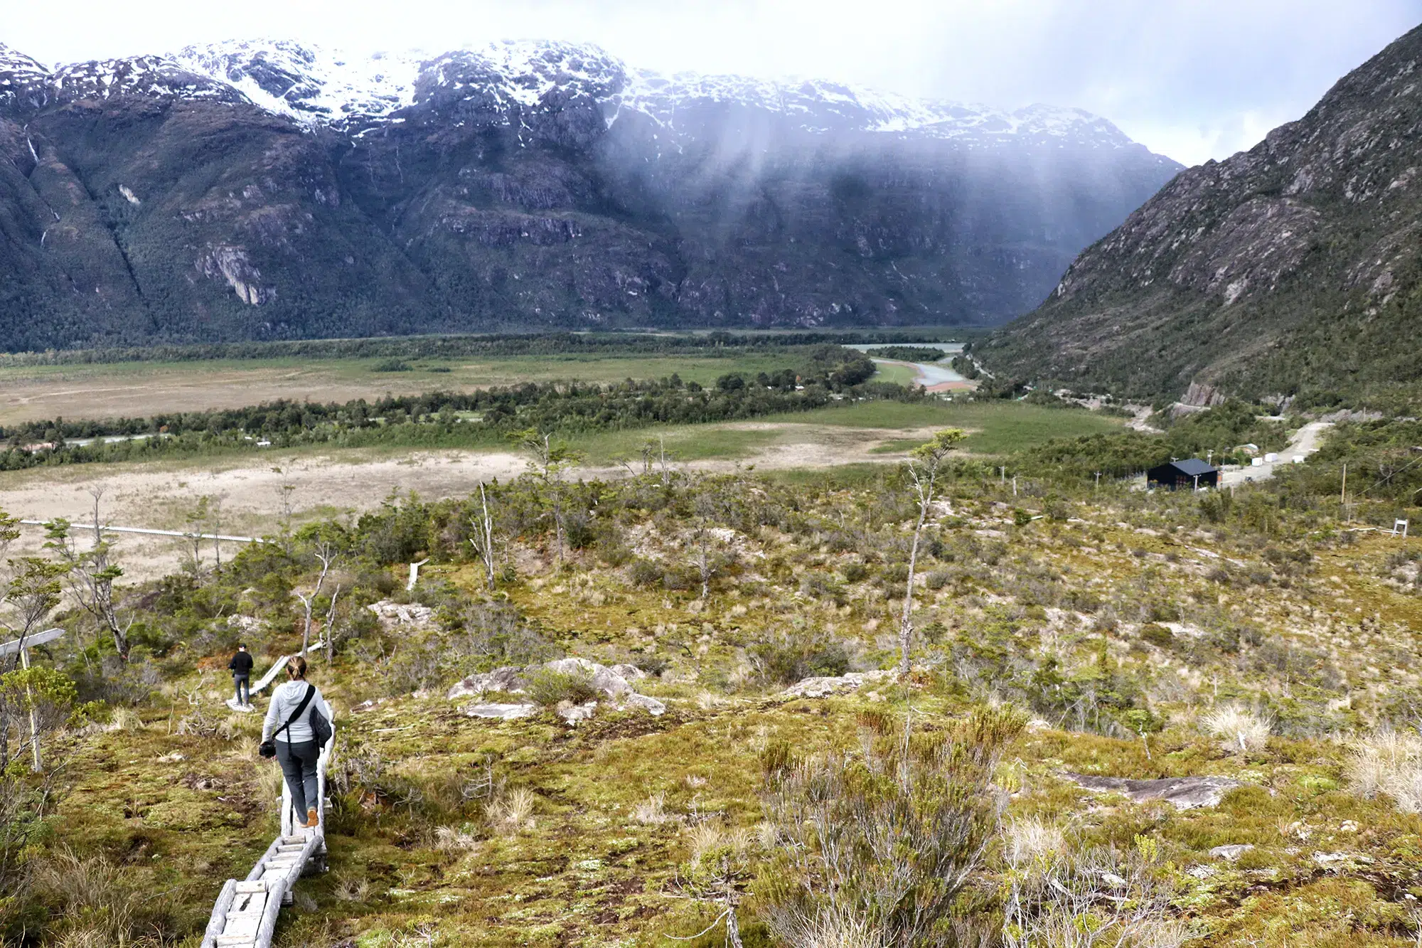
<path id="1" fill-rule="evenodd" d="M 785 846 L 761 877 L 762 914 L 792 948 L 988 941 L 966 890 L 1005 800 L 993 770 L 1022 717 L 984 709 L 907 742 L 893 730 L 768 780 L 765 810 Z"/>

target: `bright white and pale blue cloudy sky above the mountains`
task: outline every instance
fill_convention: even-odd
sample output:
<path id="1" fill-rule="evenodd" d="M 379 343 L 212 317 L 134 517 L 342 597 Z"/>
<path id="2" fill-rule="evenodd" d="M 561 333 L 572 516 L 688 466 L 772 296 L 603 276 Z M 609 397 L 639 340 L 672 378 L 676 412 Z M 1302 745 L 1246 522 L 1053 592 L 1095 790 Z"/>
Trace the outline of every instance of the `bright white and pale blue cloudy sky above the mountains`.
<path id="1" fill-rule="evenodd" d="M 1076 105 L 1185 164 L 1301 117 L 1419 23 L 1422 0 L 0 0 L 0 43 L 46 63 L 263 36 L 431 53 L 587 40 L 664 71 Z"/>

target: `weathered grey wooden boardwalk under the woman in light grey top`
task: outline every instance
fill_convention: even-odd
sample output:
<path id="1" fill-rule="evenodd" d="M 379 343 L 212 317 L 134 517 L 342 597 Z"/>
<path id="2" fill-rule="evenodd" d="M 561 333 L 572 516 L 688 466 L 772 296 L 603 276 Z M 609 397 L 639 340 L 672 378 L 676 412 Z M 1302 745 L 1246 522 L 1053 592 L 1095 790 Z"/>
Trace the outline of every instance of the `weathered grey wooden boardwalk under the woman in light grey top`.
<path id="1" fill-rule="evenodd" d="M 284 660 L 276 668 L 284 665 Z M 274 670 L 274 669 L 273 669 Z M 253 689 L 255 690 L 255 689 Z M 306 814 L 292 809 L 292 789 L 282 781 L 282 831 L 242 881 L 229 878 L 212 907 L 202 948 L 270 948 L 276 917 L 292 904 L 292 888 L 307 871 L 326 871 L 326 769 L 336 750 L 336 715 L 330 702 L 321 710 L 331 722 L 331 739 L 317 762 L 317 810 L 320 826 L 300 824 Z M 274 767 L 276 763 L 273 762 Z"/>

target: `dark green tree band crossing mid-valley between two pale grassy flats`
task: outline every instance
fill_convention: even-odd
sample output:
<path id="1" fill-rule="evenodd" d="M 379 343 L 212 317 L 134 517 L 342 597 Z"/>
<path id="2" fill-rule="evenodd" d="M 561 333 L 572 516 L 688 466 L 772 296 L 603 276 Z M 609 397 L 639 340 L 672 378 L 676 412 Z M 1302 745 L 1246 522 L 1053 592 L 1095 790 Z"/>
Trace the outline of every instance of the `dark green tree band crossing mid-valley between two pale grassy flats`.
<path id="1" fill-rule="evenodd" d="M 869 381 L 873 372 L 863 353 L 822 346 L 812 349 L 799 369 L 757 376 L 732 372 L 710 387 L 673 374 L 616 384 L 523 383 L 344 403 L 279 400 L 144 418 L 54 418 L 0 430 L 6 444 L 0 470 L 307 444 L 472 446 L 502 441 L 525 428 L 566 436 L 806 411 L 836 400 L 923 397 L 921 390 Z"/>

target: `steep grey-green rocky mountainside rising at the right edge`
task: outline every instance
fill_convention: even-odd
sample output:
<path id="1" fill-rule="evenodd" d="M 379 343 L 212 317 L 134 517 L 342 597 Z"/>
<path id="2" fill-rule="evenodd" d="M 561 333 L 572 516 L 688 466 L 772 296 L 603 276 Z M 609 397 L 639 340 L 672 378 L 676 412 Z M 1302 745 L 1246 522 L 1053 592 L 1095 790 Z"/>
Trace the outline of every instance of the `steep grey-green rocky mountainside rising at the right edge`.
<path id="1" fill-rule="evenodd" d="M 1020 379 L 1132 394 L 1412 384 L 1422 27 L 1257 147 L 1177 175 L 980 347 Z"/>

